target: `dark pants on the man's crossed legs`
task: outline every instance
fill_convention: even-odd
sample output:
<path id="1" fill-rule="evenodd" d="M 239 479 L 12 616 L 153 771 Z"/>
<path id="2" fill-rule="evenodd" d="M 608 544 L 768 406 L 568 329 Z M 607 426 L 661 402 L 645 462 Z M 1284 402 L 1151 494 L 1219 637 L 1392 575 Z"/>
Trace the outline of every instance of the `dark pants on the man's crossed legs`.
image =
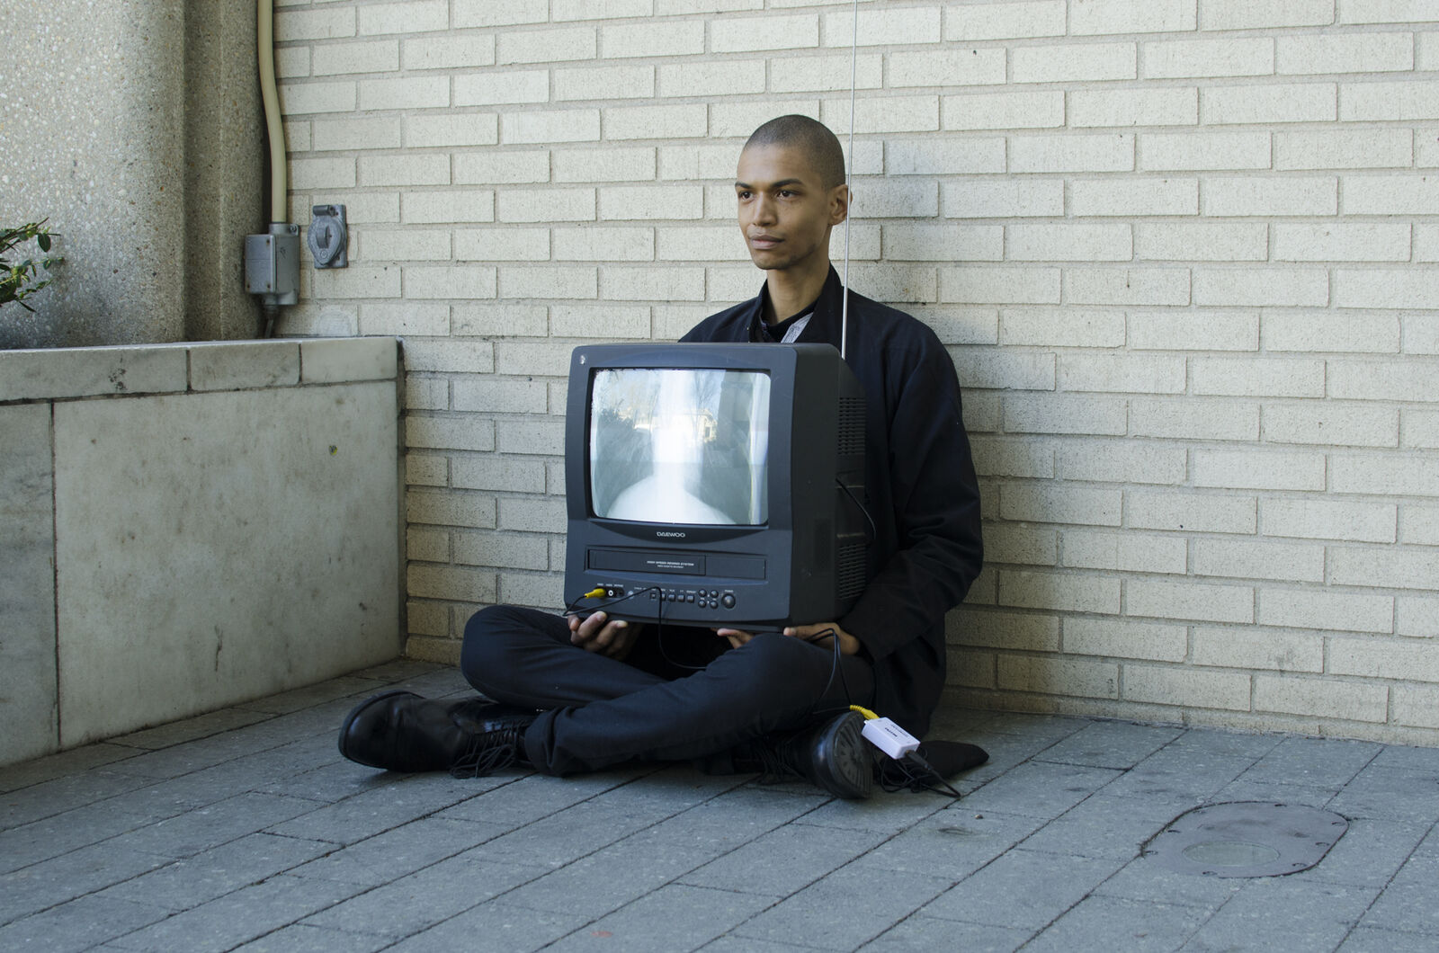
<path id="1" fill-rule="evenodd" d="M 478 691 L 543 708 L 525 753 L 547 774 L 632 759 L 701 760 L 732 770 L 728 751 L 812 714 L 869 705 L 871 664 L 767 633 L 731 649 L 707 629 L 646 626 L 623 662 L 570 643 L 563 616 L 489 606 L 465 626 L 460 671 Z"/>

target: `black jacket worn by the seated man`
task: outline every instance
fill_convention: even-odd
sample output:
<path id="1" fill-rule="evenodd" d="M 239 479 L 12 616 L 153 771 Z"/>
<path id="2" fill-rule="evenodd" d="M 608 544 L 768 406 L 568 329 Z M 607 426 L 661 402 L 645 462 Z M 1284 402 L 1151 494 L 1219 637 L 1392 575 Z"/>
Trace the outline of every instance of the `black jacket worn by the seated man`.
<path id="1" fill-rule="evenodd" d="M 764 340 L 757 337 L 764 294 L 705 318 L 681 340 Z M 842 294 L 832 268 L 797 344 L 840 345 Z M 878 534 L 869 586 L 836 622 L 873 662 L 878 713 L 922 736 L 944 690 L 944 613 L 964 599 L 984 559 L 960 383 L 934 331 L 853 289 L 845 350 L 868 397 L 866 491 Z"/>

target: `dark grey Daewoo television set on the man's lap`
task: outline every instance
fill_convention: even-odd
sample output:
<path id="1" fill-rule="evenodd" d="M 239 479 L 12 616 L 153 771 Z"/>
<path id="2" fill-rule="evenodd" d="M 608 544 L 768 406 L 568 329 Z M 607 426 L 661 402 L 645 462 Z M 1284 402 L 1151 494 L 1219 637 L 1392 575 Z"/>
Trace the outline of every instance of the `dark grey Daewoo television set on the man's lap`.
<path id="1" fill-rule="evenodd" d="M 576 610 L 767 632 L 868 583 L 865 393 L 829 344 L 577 347 L 566 491 Z"/>

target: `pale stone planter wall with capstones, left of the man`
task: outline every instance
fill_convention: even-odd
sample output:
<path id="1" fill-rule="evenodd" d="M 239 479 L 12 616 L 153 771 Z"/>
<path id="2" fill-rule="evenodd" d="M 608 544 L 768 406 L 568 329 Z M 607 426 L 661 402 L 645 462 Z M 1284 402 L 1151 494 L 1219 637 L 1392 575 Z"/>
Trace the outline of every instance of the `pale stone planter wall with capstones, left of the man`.
<path id="1" fill-rule="evenodd" d="M 0 351 L 0 764 L 400 654 L 397 353 Z"/>

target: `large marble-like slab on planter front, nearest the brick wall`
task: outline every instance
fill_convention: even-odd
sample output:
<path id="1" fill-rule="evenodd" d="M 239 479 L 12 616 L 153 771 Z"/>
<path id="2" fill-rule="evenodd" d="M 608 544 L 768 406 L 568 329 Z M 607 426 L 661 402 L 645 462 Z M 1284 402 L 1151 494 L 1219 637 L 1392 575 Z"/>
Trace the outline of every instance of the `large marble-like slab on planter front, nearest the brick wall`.
<path id="1" fill-rule="evenodd" d="M 55 413 L 65 747 L 399 654 L 393 381 Z"/>

